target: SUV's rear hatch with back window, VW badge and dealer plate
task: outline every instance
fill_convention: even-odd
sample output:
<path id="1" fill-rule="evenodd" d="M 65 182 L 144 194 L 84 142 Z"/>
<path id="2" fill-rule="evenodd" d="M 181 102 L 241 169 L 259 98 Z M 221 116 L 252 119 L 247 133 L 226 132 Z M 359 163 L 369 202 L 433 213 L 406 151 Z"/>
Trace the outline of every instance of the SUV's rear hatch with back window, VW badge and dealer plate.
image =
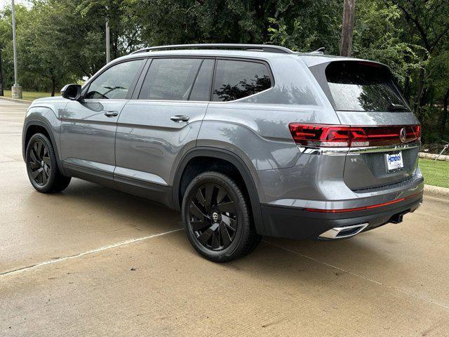
<path id="1" fill-rule="evenodd" d="M 349 126 L 344 182 L 362 191 L 402 183 L 417 167 L 420 125 L 388 67 L 336 60 L 312 71 L 343 126 Z M 321 79 L 321 81 L 320 81 Z"/>

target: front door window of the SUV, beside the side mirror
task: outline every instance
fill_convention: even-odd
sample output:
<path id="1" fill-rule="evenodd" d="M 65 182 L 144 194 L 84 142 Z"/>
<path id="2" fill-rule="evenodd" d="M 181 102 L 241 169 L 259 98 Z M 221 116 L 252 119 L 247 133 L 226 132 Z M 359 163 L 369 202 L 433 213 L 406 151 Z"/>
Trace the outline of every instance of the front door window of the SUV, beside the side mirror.
<path id="1" fill-rule="evenodd" d="M 125 99 L 144 62 L 145 60 L 133 60 L 113 65 L 92 81 L 85 97 L 100 100 Z"/>

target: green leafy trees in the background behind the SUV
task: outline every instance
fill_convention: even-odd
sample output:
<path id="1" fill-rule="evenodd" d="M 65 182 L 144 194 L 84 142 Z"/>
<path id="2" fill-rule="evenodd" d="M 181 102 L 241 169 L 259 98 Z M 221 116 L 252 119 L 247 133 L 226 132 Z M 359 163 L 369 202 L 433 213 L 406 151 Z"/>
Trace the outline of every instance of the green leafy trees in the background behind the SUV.
<path id="1" fill-rule="evenodd" d="M 91 77 L 142 46 L 279 44 L 340 48 L 342 0 L 34 0 L 16 5 L 19 82 L 51 91 Z M 356 0 L 352 54 L 389 65 L 424 125 L 424 140 L 449 138 L 449 1 Z M 13 84 L 11 8 L 0 12 L 4 84 Z"/>

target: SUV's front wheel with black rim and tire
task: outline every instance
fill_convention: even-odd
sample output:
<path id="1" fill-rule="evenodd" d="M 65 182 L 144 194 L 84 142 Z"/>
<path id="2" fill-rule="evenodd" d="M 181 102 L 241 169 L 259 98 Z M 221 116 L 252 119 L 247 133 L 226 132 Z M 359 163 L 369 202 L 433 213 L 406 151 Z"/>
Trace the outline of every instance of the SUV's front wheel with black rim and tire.
<path id="1" fill-rule="evenodd" d="M 53 145 L 42 133 L 29 139 L 25 162 L 31 185 L 41 193 L 61 192 L 72 179 L 60 173 Z"/>

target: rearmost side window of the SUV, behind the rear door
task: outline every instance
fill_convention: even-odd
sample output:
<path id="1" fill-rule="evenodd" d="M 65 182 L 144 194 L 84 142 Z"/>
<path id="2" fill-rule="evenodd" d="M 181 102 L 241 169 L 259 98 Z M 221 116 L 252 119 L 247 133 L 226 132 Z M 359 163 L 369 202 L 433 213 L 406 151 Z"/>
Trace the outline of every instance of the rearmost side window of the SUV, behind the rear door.
<path id="1" fill-rule="evenodd" d="M 217 60 L 213 100 L 237 100 L 272 86 L 269 71 L 263 63 Z"/>

